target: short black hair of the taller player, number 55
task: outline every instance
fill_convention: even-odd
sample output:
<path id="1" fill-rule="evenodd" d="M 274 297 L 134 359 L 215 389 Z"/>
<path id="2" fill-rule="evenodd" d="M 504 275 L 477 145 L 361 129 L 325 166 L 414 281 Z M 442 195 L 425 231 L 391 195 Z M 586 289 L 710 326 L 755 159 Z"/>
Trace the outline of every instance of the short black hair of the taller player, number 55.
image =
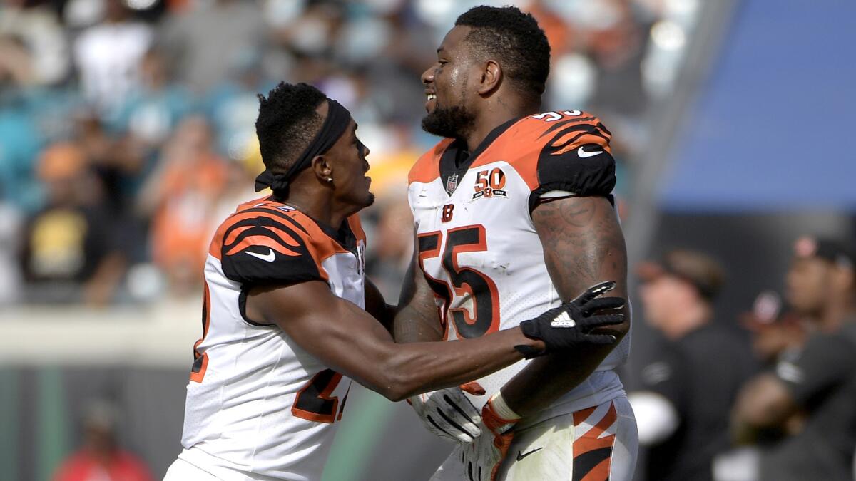
<path id="1" fill-rule="evenodd" d="M 455 26 L 473 30 L 465 41 L 477 53 L 502 62 L 508 79 L 531 96 L 544 93 L 550 74 L 550 44 L 532 14 L 517 7 L 479 6 L 467 10 Z"/>

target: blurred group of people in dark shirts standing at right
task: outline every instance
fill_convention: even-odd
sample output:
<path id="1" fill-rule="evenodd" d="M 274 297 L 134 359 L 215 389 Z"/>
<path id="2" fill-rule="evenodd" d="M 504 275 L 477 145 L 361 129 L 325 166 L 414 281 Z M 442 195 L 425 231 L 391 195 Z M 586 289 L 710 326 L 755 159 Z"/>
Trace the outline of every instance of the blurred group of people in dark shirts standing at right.
<path id="1" fill-rule="evenodd" d="M 759 294 L 739 323 L 717 315 L 725 272 L 703 252 L 671 251 L 637 273 L 643 318 L 661 335 L 628 395 L 640 476 L 856 478 L 852 245 L 795 241 L 783 298 Z"/>

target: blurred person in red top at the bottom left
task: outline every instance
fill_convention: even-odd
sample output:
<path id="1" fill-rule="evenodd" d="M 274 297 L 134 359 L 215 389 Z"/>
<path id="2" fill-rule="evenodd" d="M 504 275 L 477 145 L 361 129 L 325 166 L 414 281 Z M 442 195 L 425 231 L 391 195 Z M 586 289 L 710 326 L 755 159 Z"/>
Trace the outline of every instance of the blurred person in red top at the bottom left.
<path id="1" fill-rule="evenodd" d="M 83 447 L 62 461 L 53 481 L 154 481 L 142 460 L 117 445 L 116 420 L 115 407 L 92 403 L 83 419 Z"/>

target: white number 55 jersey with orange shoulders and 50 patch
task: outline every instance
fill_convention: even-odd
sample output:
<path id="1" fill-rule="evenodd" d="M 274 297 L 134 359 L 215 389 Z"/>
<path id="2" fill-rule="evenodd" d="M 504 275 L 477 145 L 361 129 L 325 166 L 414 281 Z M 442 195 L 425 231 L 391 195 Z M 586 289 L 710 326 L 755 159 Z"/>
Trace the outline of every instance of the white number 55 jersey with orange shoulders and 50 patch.
<path id="1" fill-rule="evenodd" d="M 467 156 L 442 140 L 409 175 L 418 259 L 437 296 L 446 339 L 484 336 L 559 306 L 532 223 L 538 199 L 602 195 L 612 201 L 615 161 L 609 130 L 580 110 L 547 112 L 497 127 Z M 608 280 L 608 279 L 603 279 Z M 626 336 L 585 382 L 526 424 L 597 406 L 624 394 L 613 369 L 627 359 Z M 484 404 L 526 366 L 479 379 Z"/>

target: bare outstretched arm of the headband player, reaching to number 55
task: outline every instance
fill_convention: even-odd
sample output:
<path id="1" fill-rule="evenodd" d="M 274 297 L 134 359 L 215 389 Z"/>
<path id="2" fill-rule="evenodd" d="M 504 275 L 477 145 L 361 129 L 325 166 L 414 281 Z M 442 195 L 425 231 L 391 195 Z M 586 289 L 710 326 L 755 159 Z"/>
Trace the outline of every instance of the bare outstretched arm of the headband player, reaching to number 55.
<path id="1" fill-rule="evenodd" d="M 523 357 L 515 345 L 544 348 L 519 328 L 467 341 L 396 344 L 377 319 L 320 281 L 254 288 L 247 296 L 247 316 L 279 325 L 325 365 L 391 401 L 511 365 Z"/>

